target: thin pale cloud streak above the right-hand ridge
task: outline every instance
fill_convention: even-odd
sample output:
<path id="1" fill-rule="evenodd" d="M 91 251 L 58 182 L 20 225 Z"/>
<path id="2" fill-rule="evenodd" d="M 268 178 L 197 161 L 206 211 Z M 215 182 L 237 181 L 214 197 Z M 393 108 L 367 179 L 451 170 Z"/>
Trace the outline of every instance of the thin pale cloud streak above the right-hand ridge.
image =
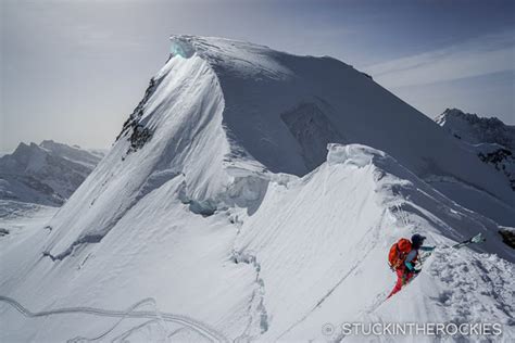
<path id="1" fill-rule="evenodd" d="M 515 71 L 513 30 L 365 67 L 389 88 L 419 86 Z"/>

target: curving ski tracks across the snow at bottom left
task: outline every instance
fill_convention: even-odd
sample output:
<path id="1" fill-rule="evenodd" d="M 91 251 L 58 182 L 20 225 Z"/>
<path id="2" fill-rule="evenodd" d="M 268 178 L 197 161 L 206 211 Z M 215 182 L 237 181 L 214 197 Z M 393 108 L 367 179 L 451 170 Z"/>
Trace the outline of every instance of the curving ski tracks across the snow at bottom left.
<path id="1" fill-rule="evenodd" d="M 169 314 L 169 313 L 160 313 L 158 310 L 155 312 L 150 312 L 150 310 L 135 310 L 137 307 L 141 306 L 145 303 L 154 303 L 155 301 L 153 298 L 145 298 L 133 306 L 130 306 L 127 310 L 110 310 L 110 309 L 102 309 L 102 308 L 95 308 L 95 307 L 63 307 L 63 308 L 55 308 L 55 309 L 50 309 L 50 310 L 43 310 L 43 312 L 36 312 L 33 313 L 26 307 L 24 307 L 22 304 L 20 304 L 14 298 L 8 297 L 8 296 L 1 296 L 0 295 L 0 302 L 7 303 L 14 307 L 18 313 L 21 313 L 23 316 L 27 318 L 37 318 L 37 317 L 47 317 L 47 316 L 53 316 L 53 315 L 66 315 L 66 314 L 85 314 L 85 315 L 93 315 L 93 316 L 103 316 L 103 317 L 114 317 L 114 318 L 121 318 L 113 327 L 111 327 L 109 330 L 103 332 L 97 338 L 93 339 L 86 339 L 86 338 L 74 338 L 68 342 L 80 342 L 80 341 L 95 341 L 95 340 L 100 340 L 108 335 L 110 332 L 112 332 L 124 319 L 127 318 L 140 318 L 140 319 L 151 319 L 143 325 L 139 325 L 136 328 L 133 328 L 122 334 L 122 336 L 127 336 L 134 330 L 142 328 L 151 322 L 159 322 L 159 321 L 169 321 L 169 322 L 175 322 L 178 325 L 181 325 L 184 327 L 187 327 L 188 329 L 191 329 L 199 333 L 200 335 L 206 338 L 208 340 L 212 342 L 230 342 L 224 334 L 221 332 L 216 331 L 215 329 L 211 328 L 206 323 L 203 323 L 197 319 L 183 316 L 183 315 L 175 315 L 175 314 Z M 175 334 L 176 332 L 174 331 L 171 335 Z M 116 339 L 120 339 L 121 336 L 118 335 Z"/>

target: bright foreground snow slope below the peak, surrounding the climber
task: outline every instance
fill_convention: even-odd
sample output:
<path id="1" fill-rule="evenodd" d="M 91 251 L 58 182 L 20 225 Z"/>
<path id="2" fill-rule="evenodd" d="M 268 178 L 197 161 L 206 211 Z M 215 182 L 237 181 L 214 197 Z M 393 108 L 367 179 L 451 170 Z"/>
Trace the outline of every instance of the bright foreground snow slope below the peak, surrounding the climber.
<path id="1" fill-rule="evenodd" d="M 17 246 L 2 245 L 8 276 L 2 295 L 33 312 L 87 306 L 124 314 L 147 300 L 135 310 L 158 314 L 158 319 L 159 314 L 194 318 L 229 340 L 337 340 L 338 331 L 323 334 L 324 323 L 399 320 L 398 308 L 406 319 L 441 322 L 468 308 L 468 317 L 460 320 L 481 316 L 504 325 L 506 342 L 515 338 L 513 298 L 505 294 L 514 287 L 515 256 L 500 242 L 497 225 L 460 207 L 380 151 L 331 145 L 328 162 L 310 175 L 275 175 L 251 216 L 246 208 L 228 208 L 204 217 L 184 203 L 183 191 L 179 175 L 138 202 L 100 243 L 62 261 L 41 257 L 52 234 L 41 228 Z M 420 292 L 417 296 L 395 296 L 381 305 L 394 282 L 386 266 L 389 245 L 414 231 L 439 246 L 482 232 L 488 241 L 476 247 L 510 262 L 442 249 L 407 289 Z M 35 249 L 16 252 L 28 245 Z M 456 275 L 455 268 L 463 270 Z M 449 301 L 452 296 L 456 302 Z M 5 340 L 61 341 L 108 331 L 106 338 L 114 339 L 135 329 L 158 341 L 179 329 L 164 319 L 153 322 L 158 328 L 142 326 L 145 317 L 124 319 L 110 331 L 120 318 L 89 315 L 84 326 L 80 312 L 43 320 L 24 318 L 7 304 L 0 308 L 10 328 L 2 332 Z M 27 325 L 30 330 L 17 329 Z M 184 330 L 192 341 L 205 340 L 191 327 Z"/>

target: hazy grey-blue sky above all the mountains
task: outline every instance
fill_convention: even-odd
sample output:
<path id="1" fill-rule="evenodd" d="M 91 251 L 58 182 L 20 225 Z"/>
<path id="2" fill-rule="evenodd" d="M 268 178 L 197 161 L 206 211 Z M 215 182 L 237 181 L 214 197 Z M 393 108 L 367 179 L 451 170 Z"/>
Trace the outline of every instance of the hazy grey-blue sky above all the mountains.
<path id="1" fill-rule="evenodd" d="M 0 153 L 43 139 L 109 148 L 172 34 L 330 55 L 427 116 L 515 124 L 515 1 L 0 0 Z"/>

